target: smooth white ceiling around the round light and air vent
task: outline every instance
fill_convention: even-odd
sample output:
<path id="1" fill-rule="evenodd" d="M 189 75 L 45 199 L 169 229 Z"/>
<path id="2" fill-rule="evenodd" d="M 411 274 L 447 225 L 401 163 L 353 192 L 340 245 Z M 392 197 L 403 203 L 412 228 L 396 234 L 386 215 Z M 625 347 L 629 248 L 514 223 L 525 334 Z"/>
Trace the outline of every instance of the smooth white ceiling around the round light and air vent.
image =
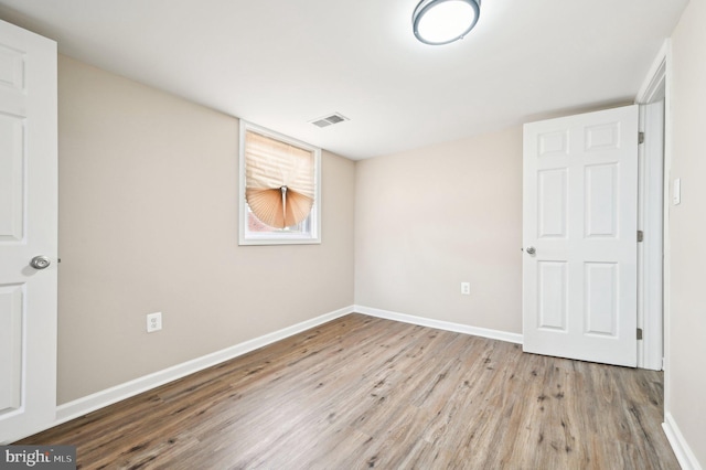
<path id="1" fill-rule="evenodd" d="M 688 0 L 483 0 L 462 41 L 418 0 L 0 0 L 60 52 L 352 159 L 632 100 Z M 351 120 L 308 121 L 338 111 Z"/>

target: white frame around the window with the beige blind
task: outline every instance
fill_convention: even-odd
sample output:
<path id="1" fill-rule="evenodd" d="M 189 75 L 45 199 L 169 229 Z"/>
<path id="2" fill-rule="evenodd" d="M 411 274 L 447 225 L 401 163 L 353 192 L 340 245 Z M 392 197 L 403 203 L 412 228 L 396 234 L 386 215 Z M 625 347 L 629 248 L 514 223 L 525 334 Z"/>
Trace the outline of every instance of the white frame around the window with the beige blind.
<path id="1" fill-rule="evenodd" d="M 321 244 L 321 149 L 301 140 L 293 139 L 280 132 L 257 126 L 240 119 L 238 142 L 238 245 L 317 245 Z M 314 201 L 309 214 L 309 232 L 288 233 L 286 229 L 277 232 L 249 232 L 248 213 L 250 209 L 245 199 L 245 138 L 247 131 L 253 131 L 270 139 L 279 140 L 290 146 L 311 151 L 314 159 Z"/>

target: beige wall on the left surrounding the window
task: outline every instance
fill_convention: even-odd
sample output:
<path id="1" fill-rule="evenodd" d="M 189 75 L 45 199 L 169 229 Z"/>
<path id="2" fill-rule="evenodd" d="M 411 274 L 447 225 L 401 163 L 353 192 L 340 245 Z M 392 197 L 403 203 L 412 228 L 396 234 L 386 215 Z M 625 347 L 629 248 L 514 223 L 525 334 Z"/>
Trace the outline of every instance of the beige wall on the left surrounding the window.
<path id="1" fill-rule="evenodd" d="M 323 244 L 239 247 L 237 119 L 65 56 L 58 79 L 60 404 L 353 303 L 352 161 L 323 154 Z"/>

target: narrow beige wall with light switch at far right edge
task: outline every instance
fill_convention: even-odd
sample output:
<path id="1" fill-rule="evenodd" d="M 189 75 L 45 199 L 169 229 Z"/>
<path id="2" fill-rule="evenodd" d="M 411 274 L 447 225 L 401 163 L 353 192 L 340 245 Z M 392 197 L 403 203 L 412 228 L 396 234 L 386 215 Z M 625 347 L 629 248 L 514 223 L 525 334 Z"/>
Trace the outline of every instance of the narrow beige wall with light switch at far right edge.
<path id="1" fill-rule="evenodd" d="M 706 468 L 706 2 L 692 1 L 673 35 L 673 178 L 682 204 L 670 210 L 668 403 Z"/>

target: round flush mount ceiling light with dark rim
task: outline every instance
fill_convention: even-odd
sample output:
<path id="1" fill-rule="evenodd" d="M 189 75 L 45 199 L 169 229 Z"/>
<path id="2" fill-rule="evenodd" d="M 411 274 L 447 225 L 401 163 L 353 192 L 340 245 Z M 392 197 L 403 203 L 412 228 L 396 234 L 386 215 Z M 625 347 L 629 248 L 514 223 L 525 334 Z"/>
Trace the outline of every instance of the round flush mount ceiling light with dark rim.
<path id="1" fill-rule="evenodd" d="M 480 15 L 481 0 L 421 0 L 411 15 L 415 36 L 441 45 L 463 39 Z"/>

